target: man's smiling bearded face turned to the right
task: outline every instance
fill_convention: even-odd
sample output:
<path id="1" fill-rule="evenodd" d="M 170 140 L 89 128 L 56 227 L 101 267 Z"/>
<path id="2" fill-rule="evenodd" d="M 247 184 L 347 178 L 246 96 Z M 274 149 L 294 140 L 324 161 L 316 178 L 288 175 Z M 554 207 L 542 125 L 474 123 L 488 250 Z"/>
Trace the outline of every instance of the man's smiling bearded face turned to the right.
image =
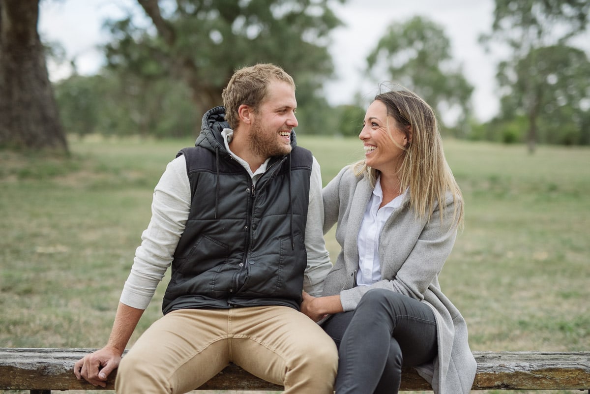
<path id="1" fill-rule="evenodd" d="M 250 128 L 250 149 L 255 155 L 266 158 L 291 152 L 291 129 L 298 124 L 296 108 L 290 84 L 274 80 L 268 85 L 266 101 L 255 112 Z"/>

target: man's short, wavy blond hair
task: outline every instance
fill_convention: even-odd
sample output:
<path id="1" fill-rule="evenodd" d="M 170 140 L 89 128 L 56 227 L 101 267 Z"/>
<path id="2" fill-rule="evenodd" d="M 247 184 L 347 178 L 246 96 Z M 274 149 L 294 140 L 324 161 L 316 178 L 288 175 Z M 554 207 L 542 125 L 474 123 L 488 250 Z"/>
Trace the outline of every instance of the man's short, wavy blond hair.
<path id="1" fill-rule="evenodd" d="M 268 85 L 273 80 L 286 82 L 293 89 L 295 88 L 291 75 L 274 64 L 261 63 L 235 71 L 230 82 L 221 93 L 225 106 L 225 120 L 232 129 L 238 127 L 238 119 L 240 119 L 238 109 L 240 106 L 242 104 L 247 105 L 257 111 L 260 104 L 266 100 Z"/>

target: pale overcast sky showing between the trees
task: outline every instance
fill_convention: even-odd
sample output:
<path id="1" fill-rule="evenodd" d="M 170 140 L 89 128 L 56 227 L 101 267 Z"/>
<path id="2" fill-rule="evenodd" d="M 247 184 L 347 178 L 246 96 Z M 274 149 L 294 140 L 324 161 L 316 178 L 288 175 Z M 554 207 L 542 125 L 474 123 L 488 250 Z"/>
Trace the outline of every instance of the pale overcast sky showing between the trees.
<path id="1" fill-rule="evenodd" d="M 453 57 L 475 87 L 476 117 L 489 120 L 498 108 L 496 60 L 484 52 L 477 38 L 489 31 L 493 8 L 493 0 L 349 0 L 335 5 L 345 26 L 333 31 L 330 52 L 337 80 L 326 84 L 328 100 L 331 104 L 349 103 L 357 92 L 373 96 L 377 87 L 363 78 L 366 55 L 389 24 L 421 15 L 444 28 Z M 41 1 L 39 31 L 44 40 L 59 41 L 68 58 L 76 58 L 79 73 L 93 74 L 104 61 L 96 45 L 109 38 L 101 29 L 104 19 L 123 17 L 129 10 L 142 12 L 136 0 L 45 0 Z M 63 78 L 67 70 L 50 67 L 50 75 L 53 80 Z"/>

